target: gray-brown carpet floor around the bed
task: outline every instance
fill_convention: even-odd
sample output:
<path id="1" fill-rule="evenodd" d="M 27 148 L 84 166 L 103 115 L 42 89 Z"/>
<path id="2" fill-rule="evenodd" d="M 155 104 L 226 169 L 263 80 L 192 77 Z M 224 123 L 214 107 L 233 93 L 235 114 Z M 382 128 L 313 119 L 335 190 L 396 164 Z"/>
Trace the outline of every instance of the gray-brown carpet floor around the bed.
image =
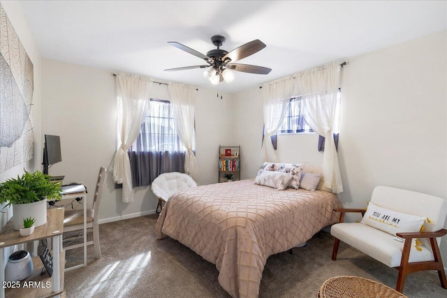
<path id="1" fill-rule="evenodd" d="M 85 268 L 65 274 L 66 297 L 230 297 L 219 282 L 215 265 L 178 241 L 155 239 L 158 215 L 141 216 L 100 225 L 102 258 L 87 248 Z M 362 276 L 395 287 L 397 270 L 340 244 L 336 261 L 330 259 L 333 237 L 314 236 L 293 255 L 268 258 L 259 297 L 315 297 L 321 284 L 333 276 Z M 67 265 L 82 262 L 82 248 L 66 252 Z M 447 297 L 435 271 L 406 278 L 408 297 Z"/>

